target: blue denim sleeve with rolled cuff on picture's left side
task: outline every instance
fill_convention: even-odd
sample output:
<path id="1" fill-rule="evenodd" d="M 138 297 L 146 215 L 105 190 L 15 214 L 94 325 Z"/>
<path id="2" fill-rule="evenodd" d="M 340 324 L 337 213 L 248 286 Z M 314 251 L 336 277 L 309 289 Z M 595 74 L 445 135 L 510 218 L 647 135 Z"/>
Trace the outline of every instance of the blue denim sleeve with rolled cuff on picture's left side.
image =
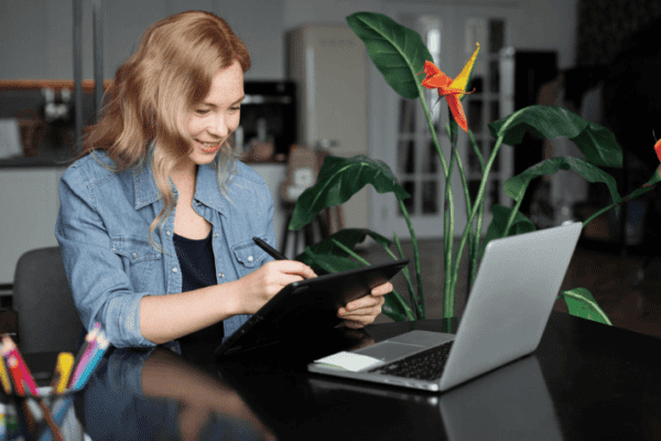
<path id="1" fill-rule="evenodd" d="M 133 291 L 98 204 L 86 170 L 71 166 L 59 183 L 55 236 L 78 314 L 88 330 L 100 321 L 117 347 L 153 346 L 140 332 L 140 302 L 148 293 Z"/>

